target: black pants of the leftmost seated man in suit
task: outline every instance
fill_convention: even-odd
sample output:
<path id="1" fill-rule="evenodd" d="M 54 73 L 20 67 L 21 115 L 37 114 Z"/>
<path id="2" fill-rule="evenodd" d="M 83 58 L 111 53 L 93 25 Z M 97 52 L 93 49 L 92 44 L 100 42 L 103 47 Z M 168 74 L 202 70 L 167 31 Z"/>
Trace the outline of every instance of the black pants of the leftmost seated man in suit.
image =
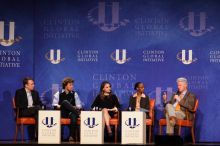
<path id="1" fill-rule="evenodd" d="M 33 117 L 35 119 L 35 130 L 34 130 L 34 138 L 38 137 L 38 111 L 41 109 L 40 106 L 34 106 L 26 109 L 20 109 L 19 117 Z M 31 131 L 31 130 L 28 130 Z M 31 134 L 31 133 L 29 133 Z M 36 137 L 35 137 L 36 136 Z"/>

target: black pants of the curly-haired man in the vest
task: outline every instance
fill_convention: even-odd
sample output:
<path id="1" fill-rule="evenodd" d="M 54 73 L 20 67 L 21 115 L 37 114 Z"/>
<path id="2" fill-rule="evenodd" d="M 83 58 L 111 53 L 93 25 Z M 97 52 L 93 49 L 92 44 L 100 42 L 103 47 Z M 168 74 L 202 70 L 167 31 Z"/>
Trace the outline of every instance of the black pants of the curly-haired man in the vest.
<path id="1" fill-rule="evenodd" d="M 76 133 L 76 128 L 77 128 L 76 121 L 77 121 L 77 118 L 79 117 L 79 114 L 68 100 L 64 100 L 61 103 L 61 117 L 70 118 L 71 120 L 71 124 L 69 126 L 70 135 L 74 138 L 75 133 Z M 63 136 L 63 128 L 62 128 L 61 135 Z"/>

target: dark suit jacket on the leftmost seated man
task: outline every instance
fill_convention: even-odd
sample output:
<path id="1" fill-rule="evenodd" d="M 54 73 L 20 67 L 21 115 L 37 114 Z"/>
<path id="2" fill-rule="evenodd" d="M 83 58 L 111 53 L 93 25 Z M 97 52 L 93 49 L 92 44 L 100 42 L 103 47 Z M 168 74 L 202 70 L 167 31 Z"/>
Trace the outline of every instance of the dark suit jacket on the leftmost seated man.
<path id="1" fill-rule="evenodd" d="M 37 91 L 31 91 L 33 105 L 34 106 L 42 106 L 42 102 L 40 100 L 39 94 Z M 25 88 L 18 89 L 15 93 L 15 105 L 19 109 L 26 109 L 28 107 L 28 99 Z"/>

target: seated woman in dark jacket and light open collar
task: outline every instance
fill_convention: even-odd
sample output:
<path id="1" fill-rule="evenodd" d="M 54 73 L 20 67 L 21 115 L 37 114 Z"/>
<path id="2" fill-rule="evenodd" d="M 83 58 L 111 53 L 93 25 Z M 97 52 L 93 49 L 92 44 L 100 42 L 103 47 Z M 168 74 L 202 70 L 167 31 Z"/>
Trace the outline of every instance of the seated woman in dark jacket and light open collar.
<path id="1" fill-rule="evenodd" d="M 129 110 L 131 111 L 144 111 L 146 118 L 149 117 L 149 96 L 144 93 L 144 84 L 137 82 L 134 85 L 136 92 L 130 97 Z"/>

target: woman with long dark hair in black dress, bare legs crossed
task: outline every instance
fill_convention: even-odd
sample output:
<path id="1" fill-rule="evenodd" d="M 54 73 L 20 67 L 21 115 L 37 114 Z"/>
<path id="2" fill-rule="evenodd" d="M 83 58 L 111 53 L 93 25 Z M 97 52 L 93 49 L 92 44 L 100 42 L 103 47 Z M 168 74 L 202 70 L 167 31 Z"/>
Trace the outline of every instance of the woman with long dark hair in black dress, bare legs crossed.
<path id="1" fill-rule="evenodd" d="M 119 109 L 119 102 L 116 95 L 111 92 L 111 84 L 104 81 L 101 84 L 100 92 L 95 98 L 91 108 L 93 110 L 102 110 L 104 112 L 104 121 L 107 127 L 108 135 L 112 136 L 112 130 L 109 120 L 114 116 Z"/>

